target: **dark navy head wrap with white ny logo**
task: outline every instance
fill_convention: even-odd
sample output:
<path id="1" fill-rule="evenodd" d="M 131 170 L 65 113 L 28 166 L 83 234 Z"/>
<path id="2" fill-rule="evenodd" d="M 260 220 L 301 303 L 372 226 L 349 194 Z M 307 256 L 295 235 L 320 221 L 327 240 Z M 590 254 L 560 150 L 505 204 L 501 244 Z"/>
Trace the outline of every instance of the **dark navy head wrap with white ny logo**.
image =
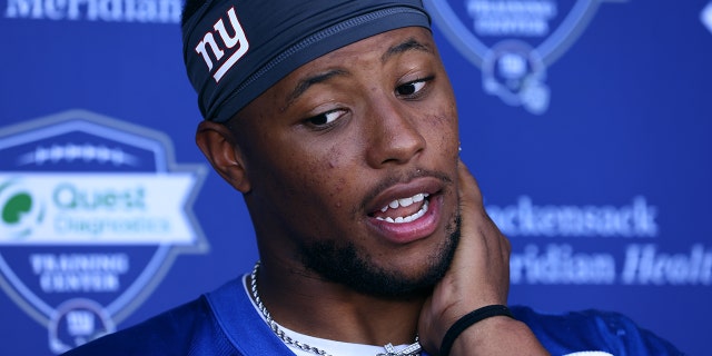
<path id="1" fill-rule="evenodd" d="M 389 30 L 431 24 L 419 0 L 191 1 L 184 14 L 184 60 L 200 112 L 217 122 L 320 56 Z"/>

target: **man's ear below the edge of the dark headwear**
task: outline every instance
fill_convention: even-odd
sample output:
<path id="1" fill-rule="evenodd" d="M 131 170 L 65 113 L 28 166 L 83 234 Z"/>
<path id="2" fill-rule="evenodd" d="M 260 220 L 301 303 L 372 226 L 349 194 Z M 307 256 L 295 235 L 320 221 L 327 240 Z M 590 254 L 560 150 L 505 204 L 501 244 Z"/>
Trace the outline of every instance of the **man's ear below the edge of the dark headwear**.
<path id="1" fill-rule="evenodd" d="M 241 192 L 249 191 L 250 184 L 247 178 L 245 158 L 229 128 L 205 120 L 198 125 L 196 144 L 210 161 L 212 168 L 230 186 Z"/>

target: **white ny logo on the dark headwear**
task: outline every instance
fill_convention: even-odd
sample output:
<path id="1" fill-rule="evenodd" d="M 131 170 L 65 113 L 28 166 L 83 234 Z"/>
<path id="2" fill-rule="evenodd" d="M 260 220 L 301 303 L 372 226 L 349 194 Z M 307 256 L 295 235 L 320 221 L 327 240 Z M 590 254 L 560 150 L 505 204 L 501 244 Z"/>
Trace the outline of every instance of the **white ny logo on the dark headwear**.
<path id="1" fill-rule="evenodd" d="M 212 71 L 214 66 L 212 59 L 208 53 L 208 48 L 212 51 L 212 57 L 215 57 L 215 60 L 218 63 L 217 69 L 212 72 L 215 82 L 219 82 L 220 78 L 222 78 L 222 76 L 225 76 L 225 73 L 227 73 L 227 71 L 233 68 L 233 66 L 235 66 L 235 63 L 245 56 L 245 53 L 247 53 L 247 49 L 249 49 L 249 42 L 247 42 L 247 37 L 245 37 L 245 30 L 243 30 L 243 26 L 237 20 L 234 7 L 227 10 L 227 17 L 230 20 L 230 26 L 235 33 L 234 36 L 230 37 L 225 28 L 225 22 L 222 22 L 222 19 L 219 19 L 212 26 L 215 31 L 207 32 L 202 37 L 202 40 L 196 46 L 196 52 L 202 56 L 209 71 Z M 220 34 L 220 39 L 226 48 L 221 48 L 215 40 L 215 36 L 212 36 L 212 33 L 216 32 Z M 225 58 L 226 51 L 228 51 L 229 55 L 227 58 Z M 231 52 L 231 55 L 229 52 Z"/>

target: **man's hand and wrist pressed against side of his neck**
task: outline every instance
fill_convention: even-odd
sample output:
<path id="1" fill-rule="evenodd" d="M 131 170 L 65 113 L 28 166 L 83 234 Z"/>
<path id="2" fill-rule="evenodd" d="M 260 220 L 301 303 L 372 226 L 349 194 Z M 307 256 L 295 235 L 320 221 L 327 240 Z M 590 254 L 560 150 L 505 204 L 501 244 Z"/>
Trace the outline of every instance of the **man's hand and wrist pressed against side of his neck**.
<path id="1" fill-rule="evenodd" d="M 477 308 L 506 305 L 510 290 L 510 241 L 485 212 L 475 178 L 458 167 L 461 241 L 453 264 L 423 306 L 418 333 L 423 347 L 438 355 L 447 329 Z M 505 316 L 465 329 L 452 355 L 548 355 L 528 327 Z"/>

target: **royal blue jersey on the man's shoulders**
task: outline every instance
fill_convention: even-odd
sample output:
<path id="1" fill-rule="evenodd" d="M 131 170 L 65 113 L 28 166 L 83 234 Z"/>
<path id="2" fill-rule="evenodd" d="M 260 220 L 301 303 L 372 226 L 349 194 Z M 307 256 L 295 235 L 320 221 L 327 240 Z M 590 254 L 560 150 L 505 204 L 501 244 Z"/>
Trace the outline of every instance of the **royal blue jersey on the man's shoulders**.
<path id="1" fill-rule="evenodd" d="M 586 350 L 615 356 L 683 355 L 620 314 L 586 310 L 543 315 L 527 307 L 511 309 L 552 355 Z M 236 278 L 196 300 L 65 355 L 274 356 L 294 353 L 261 319 L 241 278 Z"/>

